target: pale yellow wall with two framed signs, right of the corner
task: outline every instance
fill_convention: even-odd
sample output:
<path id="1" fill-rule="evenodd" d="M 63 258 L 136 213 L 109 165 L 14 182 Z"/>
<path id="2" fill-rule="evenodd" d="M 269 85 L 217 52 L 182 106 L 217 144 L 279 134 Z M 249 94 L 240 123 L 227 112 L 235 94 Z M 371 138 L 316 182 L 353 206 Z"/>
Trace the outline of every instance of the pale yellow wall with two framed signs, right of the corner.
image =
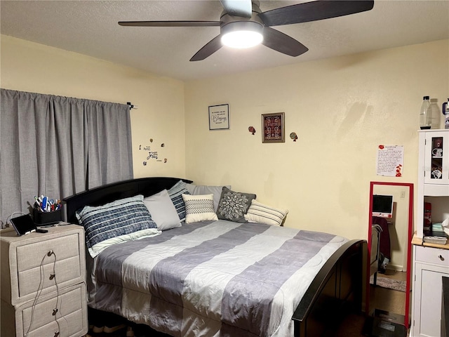
<path id="1" fill-rule="evenodd" d="M 448 60 L 443 40 L 186 83 L 187 176 L 289 209 L 286 226 L 366 238 L 370 181 L 417 182 L 422 96 L 448 98 Z M 209 131 L 223 103 L 231 128 Z M 271 112 L 286 114 L 286 143 L 262 144 Z M 402 178 L 376 175 L 380 144 L 404 146 Z"/>

